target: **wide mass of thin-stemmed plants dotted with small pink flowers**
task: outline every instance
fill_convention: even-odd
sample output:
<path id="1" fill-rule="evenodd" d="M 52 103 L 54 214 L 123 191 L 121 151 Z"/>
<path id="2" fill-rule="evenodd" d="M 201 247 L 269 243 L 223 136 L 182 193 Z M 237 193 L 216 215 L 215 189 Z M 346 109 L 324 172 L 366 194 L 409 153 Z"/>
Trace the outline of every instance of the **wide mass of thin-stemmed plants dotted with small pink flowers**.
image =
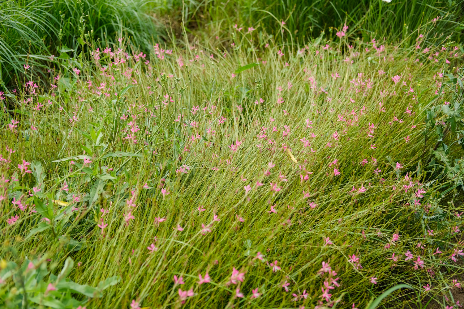
<path id="1" fill-rule="evenodd" d="M 1 305 L 460 307 L 463 50 L 436 25 L 82 36 L 45 81 L 26 58 L 0 95 Z"/>

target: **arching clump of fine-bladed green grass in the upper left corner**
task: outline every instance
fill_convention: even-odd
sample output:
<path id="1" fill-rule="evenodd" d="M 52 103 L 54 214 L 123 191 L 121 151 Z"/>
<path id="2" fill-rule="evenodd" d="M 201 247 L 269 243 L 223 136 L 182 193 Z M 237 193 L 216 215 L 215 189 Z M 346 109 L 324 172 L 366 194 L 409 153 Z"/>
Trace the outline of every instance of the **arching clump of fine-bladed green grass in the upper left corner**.
<path id="1" fill-rule="evenodd" d="M 57 59 L 78 57 L 95 40 L 115 42 L 130 36 L 148 51 L 165 31 L 149 14 L 155 1 L 6 0 L 0 2 L 0 78 L 14 88 L 26 79 L 24 64 L 48 79 Z M 55 57 L 51 57 L 54 55 Z"/>

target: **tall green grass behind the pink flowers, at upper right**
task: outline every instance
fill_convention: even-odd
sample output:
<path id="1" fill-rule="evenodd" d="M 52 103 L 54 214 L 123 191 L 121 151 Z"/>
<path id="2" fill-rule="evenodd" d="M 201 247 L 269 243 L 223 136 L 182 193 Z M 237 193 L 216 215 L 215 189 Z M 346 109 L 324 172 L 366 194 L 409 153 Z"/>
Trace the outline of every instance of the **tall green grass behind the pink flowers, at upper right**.
<path id="1" fill-rule="evenodd" d="M 181 6 L 181 2 L 176 2 Z M 414 44 L 415 32 L 438 17 L 440 32 L 453 33 L 458 41 L 464 29 L 463 1 L 391 1 L 381 0 L 233 0 L 189 1 L 186 14 L 200 24 L 210 22 L 245 27 L 259 25 L 283 42 L 307 42 L 321 31 L 335 37 L 332 27 L 350 26 L 365 40 L 388 38 Z M 202 16 L 200 16 L 202 15 Z M 207 18 L 205 18 L 205 15 Z M 205 23 L 206 19 L 206 23 Z M 282 21 L 285 24 L 282 24 Z M 414 34 L 413 34 L 414 33 Z"/>

